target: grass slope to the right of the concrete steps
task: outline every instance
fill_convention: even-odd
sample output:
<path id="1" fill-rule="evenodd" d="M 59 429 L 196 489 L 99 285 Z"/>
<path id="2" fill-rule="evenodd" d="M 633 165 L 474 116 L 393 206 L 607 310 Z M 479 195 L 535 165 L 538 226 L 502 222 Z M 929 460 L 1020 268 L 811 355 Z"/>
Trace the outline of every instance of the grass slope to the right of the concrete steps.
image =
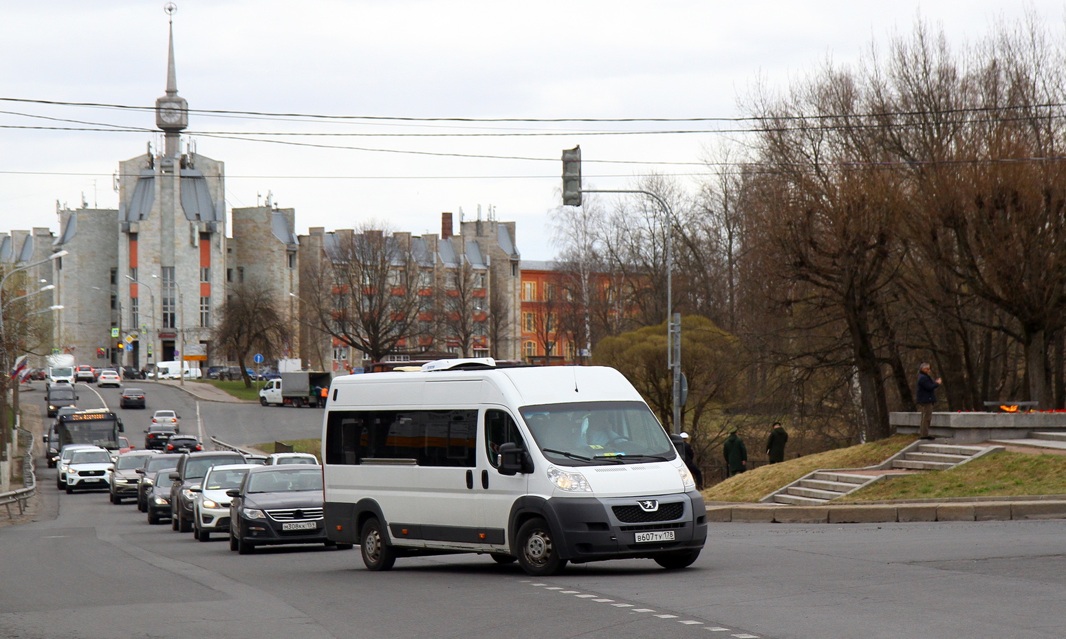
<path id="1" fill-rule="evenodd" d="M 1056 494 L 1066 494 L 1066 456 L 1005 452 L 985 455 L 947 471 L 883 479 L 837 501 Z"/>

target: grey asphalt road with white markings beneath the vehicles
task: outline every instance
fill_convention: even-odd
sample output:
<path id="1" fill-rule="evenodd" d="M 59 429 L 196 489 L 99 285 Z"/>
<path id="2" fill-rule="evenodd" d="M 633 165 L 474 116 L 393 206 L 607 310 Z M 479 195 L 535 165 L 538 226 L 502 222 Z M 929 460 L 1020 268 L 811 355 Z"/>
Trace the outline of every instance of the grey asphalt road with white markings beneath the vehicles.
<path id="1" fill-rule="evenodd" d="M 144 413 L 177 407 L 191 432 L 196 403 L 146 387 Z M 321 419 L 258 405 L 209 416 L 215 408 L 200 403 L 205 431 L 246 438 L 235 443 L 304 437 L 302 420 Z M 131 412 L 141 411 L 123 411 L 128 425 Z M 533 579 L 486 557 L 445 556 L 371 573 L 358 548 L 241 556 L 221 537 L 201 543 L 149 526 L 107 493 L 59 493 L 52 473 L 39 471 L 37 521 L 0 528 L 0 637 L 1066 636 L 1062 520 L 712 524 L 704 554 L 683 571 L 627 560 Z"/>

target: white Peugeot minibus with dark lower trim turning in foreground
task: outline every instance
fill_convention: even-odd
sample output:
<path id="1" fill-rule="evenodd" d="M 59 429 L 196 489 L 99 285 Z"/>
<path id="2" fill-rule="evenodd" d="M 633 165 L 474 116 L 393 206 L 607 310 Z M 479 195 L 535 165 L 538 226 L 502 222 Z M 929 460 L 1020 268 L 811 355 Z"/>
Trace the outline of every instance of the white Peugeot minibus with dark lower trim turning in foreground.
<path id="1" fill-rule="evenodd" d="M 442 360 L 336 377 L 326 408 L 324 524 L 370 570 L 456 552 L 537 576 L 634 557 L 684 568 L 704 546 L 692 475 L 614 368 Z"/>

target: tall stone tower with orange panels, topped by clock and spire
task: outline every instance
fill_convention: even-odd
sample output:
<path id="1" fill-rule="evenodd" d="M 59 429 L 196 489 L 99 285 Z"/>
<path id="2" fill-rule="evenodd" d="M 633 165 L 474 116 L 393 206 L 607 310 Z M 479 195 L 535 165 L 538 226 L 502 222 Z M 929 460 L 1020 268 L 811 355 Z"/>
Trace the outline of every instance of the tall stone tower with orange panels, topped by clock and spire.
<path id="1" fill-rule="evenodd" d="M 189 103 L 178 95 L 173 19 L 166 93 L 156 100 L 156 126 L 165 141 L 162 152 L 149 146 L 147 153 L 119 163 L 114 285 L 128 345 L 122 363 L 134 366 L 210 357 L 215 307 L 225 292 L 223 163 L 194 149 L 182 152 Z"/>

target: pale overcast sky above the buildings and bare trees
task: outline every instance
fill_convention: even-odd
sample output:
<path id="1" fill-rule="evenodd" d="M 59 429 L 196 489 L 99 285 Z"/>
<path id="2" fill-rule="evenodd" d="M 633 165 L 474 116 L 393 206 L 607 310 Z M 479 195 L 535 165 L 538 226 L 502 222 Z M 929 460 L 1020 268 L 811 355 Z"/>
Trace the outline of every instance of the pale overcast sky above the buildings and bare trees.
<path id="1" fill-rule="evenodd" d="M 159 0 L 0 0 L 0 97 L 151 108 L 166 83 Z M 550 259 L 560 153 L 580 144 L 585 185 L 631 187 L 676 174 L 694 189 L 721 122 L 489 122 L 379 118 L 692 118 L 740 115 L 757 79 L 787 86 L 826 58 L 855 61 L 916 18 L 958 45 L 1017 1 L 178 0 L 179 94 L 197 152 L 226 164 L 226 206 L 268 192 L 296 210 L 296 231 L 377 220 L 438 232 L 440 213 L 518 223 L 526 259 Z M 1035 11 L 1061 28 L 1063 2 Z M 300 114 L 217 116 L 195 110 Z M 117 208 L 112 176 L 160 136 L 150 111 L 0 101 L 0 230 L 58 230 L 55 201 Z M 46 119 L 59 118 L 59 119 Z M 77 120 L 77 122 L 65 121 Z M 104 125 L 104 126 L 101 126 Z M 241 140 L 213 137 L 255 133 Z M 277 135 L 278 133 L 328 135 Z M 473 133 L 563 133 L 485 136 Z M 339 133 L 372 133 L 337 135 Z M 381 134 L 406 134 L 403 136 Z M 415 136 L 410 134 L 466 134 Z M 230 137 L 237 137 L 230 135 Z M 320 148 L 359 147 L 354 148 Z M 417 151 L 386 152 L 389 151 Z M 422 154 L 440 153 L 440 154 Z M 492 155 L 467 158 L 462 155 Z M 517 159 L 510 159 L 517 158 Z M 630 161 L 596 163 L 594 161 Z"/>

